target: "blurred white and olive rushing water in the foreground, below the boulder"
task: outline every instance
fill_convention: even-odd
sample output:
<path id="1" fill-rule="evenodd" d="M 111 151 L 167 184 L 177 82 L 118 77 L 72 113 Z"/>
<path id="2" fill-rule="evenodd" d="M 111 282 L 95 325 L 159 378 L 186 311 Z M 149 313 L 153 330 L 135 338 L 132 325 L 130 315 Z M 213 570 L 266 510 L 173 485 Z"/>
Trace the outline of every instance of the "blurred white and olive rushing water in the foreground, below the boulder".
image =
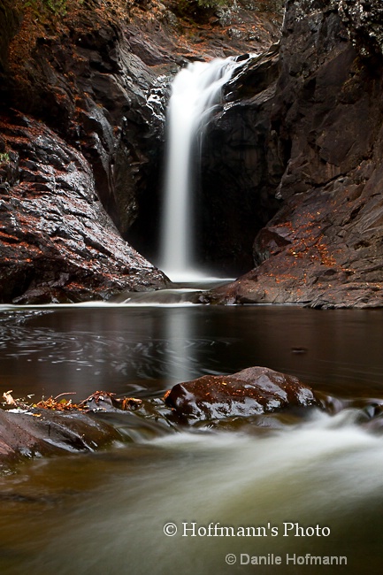
<path id="1" fill-rule="evenodd" d="M 11 488 L 19 502 L 2 502 L 2 573 L 381 572 L 383 441 L 356 427 L 351 412 L 317 415 L 262 439 L 178 433 L 109 454 L 30 464 L 23 479 L 3 479 L 3 490 Z M 179 528 L 173 537 L 164 534 L 168 522 Z M 183 523 L 232 526 L 234 533 L 265 526 L 266 536 L 185 537 L 192 532 Z M 330 534 L 297 537 L 293 530 L 285 537 L 285 523 L 328 527 Z M 347 556 L 348 564 L 255 571 L 227 566 L 228 553 L 273 553 L 284 563 L 286 554 Z"/>

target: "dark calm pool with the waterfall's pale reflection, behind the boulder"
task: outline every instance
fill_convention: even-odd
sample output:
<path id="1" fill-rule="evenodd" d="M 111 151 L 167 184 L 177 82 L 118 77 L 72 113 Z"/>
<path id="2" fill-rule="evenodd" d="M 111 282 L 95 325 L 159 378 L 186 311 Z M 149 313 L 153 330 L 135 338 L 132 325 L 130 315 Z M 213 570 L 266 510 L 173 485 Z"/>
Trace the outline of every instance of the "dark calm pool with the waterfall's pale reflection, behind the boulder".
<path id="1" fill-rule="evenodd" d="M 161 395 L 264 365 L 341 395 L 383 390 L 383 311 L 54 307 L 0 312 L 0 383 L 17 395 Z"/>

